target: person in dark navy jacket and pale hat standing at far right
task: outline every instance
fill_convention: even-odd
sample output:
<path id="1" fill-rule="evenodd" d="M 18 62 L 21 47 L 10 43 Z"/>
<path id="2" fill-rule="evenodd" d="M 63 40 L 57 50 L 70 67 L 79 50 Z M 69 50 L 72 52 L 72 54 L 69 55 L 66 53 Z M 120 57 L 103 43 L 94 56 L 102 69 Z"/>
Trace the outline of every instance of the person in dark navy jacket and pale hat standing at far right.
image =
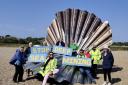
<path id="1" fill-rule="evenodd" d="M 104 73 L 104 83 L 103 85 L 111 85 L 111 70 L 114 63 L 113 54 L 111 53 L 108 46 L 103 48 L 103 73 Z M 107 82 L 108 76 L 108 82 Z"/>

